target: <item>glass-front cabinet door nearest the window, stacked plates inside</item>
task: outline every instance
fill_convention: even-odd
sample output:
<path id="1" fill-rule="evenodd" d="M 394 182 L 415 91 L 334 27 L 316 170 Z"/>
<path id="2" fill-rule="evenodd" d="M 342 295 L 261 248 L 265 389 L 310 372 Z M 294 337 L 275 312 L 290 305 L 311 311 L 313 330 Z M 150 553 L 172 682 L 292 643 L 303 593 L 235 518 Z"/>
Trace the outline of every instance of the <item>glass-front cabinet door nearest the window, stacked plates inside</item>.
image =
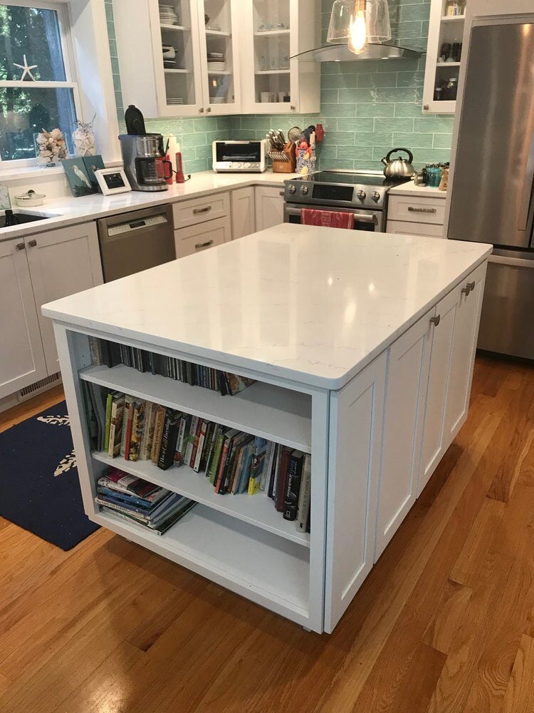
<path id="1" fill-rule="evenodd" d="M 155 11 L 161 52 L 156 66 L 162 70 L 156 80 L 162 114 L 197 115 L 204 103 L 197 0 L 157 0 Z"/>

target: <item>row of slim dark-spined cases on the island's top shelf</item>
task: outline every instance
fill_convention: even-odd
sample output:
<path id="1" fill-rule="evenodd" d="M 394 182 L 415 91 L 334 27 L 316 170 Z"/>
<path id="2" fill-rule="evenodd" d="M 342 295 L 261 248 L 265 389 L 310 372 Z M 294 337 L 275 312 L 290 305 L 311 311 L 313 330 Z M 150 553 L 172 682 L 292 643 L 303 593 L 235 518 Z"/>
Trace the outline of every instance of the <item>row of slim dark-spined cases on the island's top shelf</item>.
<path id="1" fill-rule="evenodd" d="M 108 342 L 106 339 L 89 337 L 91 363 L 95 366 L 117 366 L 125 364 L 137 371 L 148 371 L 152 374 L 167 376 L 169 379 L 183 381 L 192 386 L 203 386 L 205 389 L 220 391 L 223 396 L 234 396 L 254 383 L 254 379 L 231 374 L 229 371 L 211 369 L 209 366 L 193 364 L 174 356 L 165 356 L 145 349 L 128 347 L 126 344 Z"/>

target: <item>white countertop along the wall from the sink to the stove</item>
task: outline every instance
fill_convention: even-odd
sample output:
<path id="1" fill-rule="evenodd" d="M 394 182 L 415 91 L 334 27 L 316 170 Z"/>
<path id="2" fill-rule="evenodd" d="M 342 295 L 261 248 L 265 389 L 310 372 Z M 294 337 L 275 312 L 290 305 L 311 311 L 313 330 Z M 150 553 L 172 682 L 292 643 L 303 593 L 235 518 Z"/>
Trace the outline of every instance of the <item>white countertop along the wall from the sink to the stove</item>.
<path id="1" fill-rule="evenodd" d="M 55 230 L 66 225 L 75 225 L 75 223 L 88 220 L 97 220 L 98 218 L 117 215 L 121 212 L 139 210 L 152 205 L 163 205 L 164 203 L 174 203 L 201 195 L 221 193 L 221 191 L 231 188 L 244 188 L 247 185 L 279 185 L 283 188 L 283 182 L 290 178 L 295 178 L 295 175 L 295 173 L 272 173 L 271 171 L 266 171 L 265 173 L 214 173 L 214 171 L 205 171 L 204 173 L 193 173 L 191 180 L 186 181 L 186 183 L 173 183 L 172 186 L 169 186 L 169 190 L 152 193 L 133 190 L 131 193 L 108 196 L 98 193 L 85 195 L 81 198 L 65 196 L 47 200 L 44 205 L 34 208 L 21 208 L 14 205 L 16 212 L 44 215 L 49 220 L 38 220 L 1 228 L 0 242 L 12 240 L 15 237 L 45 232 L 46 230 Z"/>

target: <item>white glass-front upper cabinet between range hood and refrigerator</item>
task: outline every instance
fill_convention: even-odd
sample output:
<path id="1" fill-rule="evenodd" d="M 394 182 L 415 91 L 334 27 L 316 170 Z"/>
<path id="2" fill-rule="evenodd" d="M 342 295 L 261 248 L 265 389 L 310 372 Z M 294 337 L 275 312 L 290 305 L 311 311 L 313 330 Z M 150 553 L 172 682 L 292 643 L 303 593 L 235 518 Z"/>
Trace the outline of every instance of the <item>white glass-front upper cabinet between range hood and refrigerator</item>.
<path id="1" fill-rule="evenodd" d="M 431 0 L 423 113 L 454 114 L 460 72 L 465 0 Z"/>

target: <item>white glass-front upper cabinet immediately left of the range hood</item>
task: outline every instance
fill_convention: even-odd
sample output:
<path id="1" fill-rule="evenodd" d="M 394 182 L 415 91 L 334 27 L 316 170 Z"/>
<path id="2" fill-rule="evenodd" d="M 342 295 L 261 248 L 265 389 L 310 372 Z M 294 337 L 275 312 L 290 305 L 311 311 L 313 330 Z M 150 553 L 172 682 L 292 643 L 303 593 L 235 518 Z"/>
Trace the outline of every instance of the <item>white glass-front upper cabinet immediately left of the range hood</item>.
<path id="1" fill-rule="evenodd" d="M 245 0 L 243 110 L 255 114 L 320 109 L 320 65 L 290 59 L 320 45 L 318 0 Z"/>

